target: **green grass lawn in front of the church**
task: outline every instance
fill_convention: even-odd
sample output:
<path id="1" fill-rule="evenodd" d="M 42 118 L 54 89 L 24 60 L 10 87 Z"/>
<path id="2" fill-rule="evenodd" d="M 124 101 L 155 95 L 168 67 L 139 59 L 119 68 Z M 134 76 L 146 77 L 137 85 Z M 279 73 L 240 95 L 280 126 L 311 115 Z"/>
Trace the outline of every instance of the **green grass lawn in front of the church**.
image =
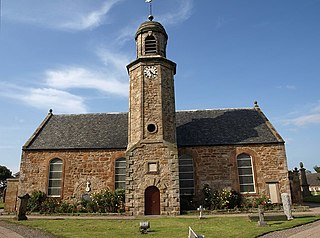
<path id="1" fill-rule="evenodd" d="M 142 237 L 139 232 L 139 222 L 148 220 L 151 231 L 148 237 L 188 236 L 191 226 L 198 234 L 206 237 L 256 237 L 266 232 L 294 227 L 300 224 L 319 220 L 320 217 L 298 217 L 291 221 L 268 222 L 267 227 L 258 227 L 246 217 L 212 217 L 199 220 L 198 218 L 143 218 L 135 220 L 27 220 L 19 224 L 38 228 L 59 237 Z"/>

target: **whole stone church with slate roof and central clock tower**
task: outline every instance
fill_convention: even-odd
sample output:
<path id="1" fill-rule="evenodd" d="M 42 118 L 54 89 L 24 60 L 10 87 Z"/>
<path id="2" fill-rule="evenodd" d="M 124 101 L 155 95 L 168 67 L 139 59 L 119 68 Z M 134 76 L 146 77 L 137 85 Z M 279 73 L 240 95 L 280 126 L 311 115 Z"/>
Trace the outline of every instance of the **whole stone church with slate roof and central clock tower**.
<path id="1" fill-rule="evenodd" d="M 274 203 L 290 193 L 284 140 L 257 103 L 176 111 L 167 40 L 152 19 L 137 30 L 129 112 L 49 111 L 23 146 L 18 194 L 41 190 L 71 202 L 125 188 L 128 214 L 177 215 L 181 199 L 199 200 L 205 184 Z"/>

